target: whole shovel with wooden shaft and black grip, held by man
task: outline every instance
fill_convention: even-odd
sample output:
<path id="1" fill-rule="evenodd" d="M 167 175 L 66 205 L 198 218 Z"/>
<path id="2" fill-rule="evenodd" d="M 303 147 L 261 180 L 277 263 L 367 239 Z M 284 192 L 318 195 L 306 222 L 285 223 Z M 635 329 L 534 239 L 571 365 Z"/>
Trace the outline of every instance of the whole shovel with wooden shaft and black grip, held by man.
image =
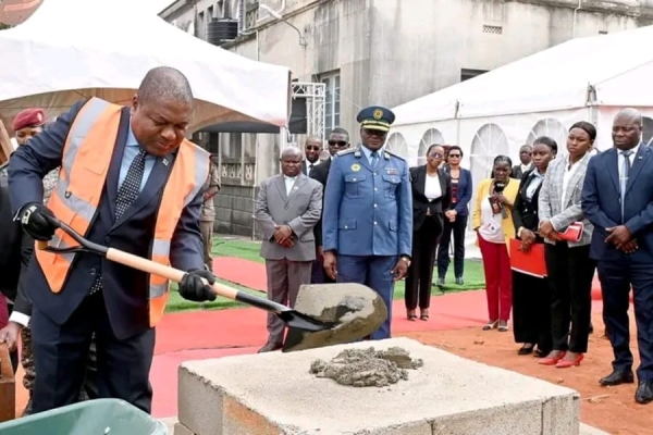
<path id="1" fill-rule="evenodd" d="M 155 261 L 151 261 L 151 260 L 138 257 L 138 256 L 134 256 L 132 253 L 121 251 L 119 249 L 109 248 L 109 247 L 106 247 L 102 245 L 95 244 L 95 243 L 84 238 L 79 233 L 77 233 L 76 231 L 71 228 L 65 223 L 59 221 L 58 219 L 49 217 L 49 220 L 57 227 L 61 228 L 63 232 L 69 234 L 79 245 L 67 247 L 67 248 L 56 248 L 56 247 L 49 246 L 47 241 L 39 240 L 38 248 L 41 250 L 45 250 L 48 252 L 54 252 L 54 253 L 90 252 L 90 253 L 95 253 L 95 254 L 104 257 L 106 259 L 111 260 L 113 262 L 139 270 L 141 272 L 162 276 L 162 277 L 173 281 L 175 283 L 181 283 L 182 277 L 186 273 L 178 269 L 159 264 Z M 205 284 L 209 285 L 209 283 L 206 282 L 206 279 L 202 279 L 202 281 L 205 282 Z M 243 303 L 249 304 L 251 307 L 256 307 L 261 310 L 264 310 L 264 311 L 275 314 L 279 319 L 281 319 L 288 326 L 288 334 L 287 334 L 287 338 L 284 343 L 283 350 L 291 351 L 291 350 L 300 350 L 300 349 L 309 349 L 309 348 L 330 346 L 332 344 L 350 343 L 350 341 L 360 339 L 360 338 L 369 335 L 371 332 L 375 331 L 381 325 L 381 323 L 385 320 L 387 312 L 385 310 L 385 304 L 383 303 L 383 301 L 381 300 L 379 295 L 377 295 L 377 293 L 374 293 L 373 290 L 371 290 L 368 287 L 359 286 L 359 285 L 355 284 L 354 286 L 356 286 L 356 287 L 364 287 L 364 290 L 358 289 L 357 293 L 360 296 L 358 297 L 357 300 L 350 300 L 350 298 L 348 300 L 347 295 L 345 295 L 345 293 L 348 293 L 348 290 L 347 290 L 348 286 L 350 286 L 350 285 L 349 284 L 331 284 L 331 285 L 323 286 L 323 287 L 330 287 L 330 289 L 325 289 L 325 291 L 336 290 L 335 293 L 340 294 L 342 296 L 344 306 L 352 307 L 348 311 L 343 310 L 341 308 L 340 310 L 336 310 L 337 313 L 334 312 L 334 313 L 332 313 L 332 315 L 328 316 L 328 319 L 323 319 L 323 320 L 319 320 L 315 316 L 301 313 L 297 310 L 293 310 L 284 304 L 273 302 L 271 300 L 268 300 L 268 299 L 264 299 L 264 298 L 261 298 L 258 296 L 250 295 L 246 291 L 237 290 L 235 288 L 225 286 L 220 283 L 214 283 L 210 287 L 218 296 L 222 296 L 222 297 L 225 297 L 231 300 L 243 302 Z M 301 286 L 301 287 L 304 288 L 307 286 Z M 312 286 L 308 286 L 308 287 L 312 287 Z M 333 288 L 333 289 L 331 289 L 331 288 Z M 301 289 L 299 290 L 299 293 L 301 294 Z M 377 319 L 377 318 L 379 318 L 379 315 L 372 316 L 374 319 L 372 322 L 367 322 L 367 323 L 364 322 L 366 327 L 362 327 L 362 328 L 360 327 L 360 319 L 359 318 L 357 318 L 355 315 L 349 315 L 349 316 L 345 315 L 347 312 L 350 314 L 352 311 L 360 311 L 360 312 L 365 312 L 369 316 L 370 311 L 371 312 L 379 311 L 379 309 L 377 308 L 379 306 L 379 301 L 381 302 L 383 312 L 378 313 L 378 314 L 380 314 L 382 319 L 379 321 Z M 333 314 L 338 314 L 338 315 L 333 315 Z M 341 318 L 343 319 L 343 321 L 340 321 Z M 354 321 L 354 320 L 358 321 L 358 322 L 354 322 L 354 323 L 358 323 L 358 326 L 355 328 L 354 333 L 352 331 L 349 331 L 350 328 L 343 327 L 343 323 L 346 323 L 347 321 Z M 341 331 L 343 331 L 343 330 L 344 330 L 344 332 L 341 333 Z M 368 332 L 368 330 L 371 330 L 371 331 Z M 309 340 L 310 343 L 305 343 L 309 337 L 311 337 L 311 334 L 325 333 L 325 332 L 330 332 L 330 331 L 333 331 L 333 333 L 326 334 L 328 339 L 320 340 L 320 339 L 313 338 L 313 339 Z M 333 337 L 334 335 L 335 335 L 335 340 Z M 341 338 L 338 339 L 338 337 L 341 337 Z M 318 337 L 316 337 L 316 338 L 318 338 Z"/>

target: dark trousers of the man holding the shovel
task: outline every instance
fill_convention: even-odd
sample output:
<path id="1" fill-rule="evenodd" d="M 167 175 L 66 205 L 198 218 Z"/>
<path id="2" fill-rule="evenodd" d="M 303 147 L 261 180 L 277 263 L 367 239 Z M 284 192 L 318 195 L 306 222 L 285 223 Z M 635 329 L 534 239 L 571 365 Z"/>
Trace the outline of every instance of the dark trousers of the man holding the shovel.
<path id="1" fill-rule="evenodd" d="M 34 307 L 32 346 L 37 373 L 34 413 L 78 401 L 87 375 L 94 333 L 97 397 L 123 399 L 147 413 L 151 412 L 149 371 L 155 351 L 155 330 L 118 339 L 111 328 L 103 296 L 102 290 L 86 298 L 62 325 Z"/>

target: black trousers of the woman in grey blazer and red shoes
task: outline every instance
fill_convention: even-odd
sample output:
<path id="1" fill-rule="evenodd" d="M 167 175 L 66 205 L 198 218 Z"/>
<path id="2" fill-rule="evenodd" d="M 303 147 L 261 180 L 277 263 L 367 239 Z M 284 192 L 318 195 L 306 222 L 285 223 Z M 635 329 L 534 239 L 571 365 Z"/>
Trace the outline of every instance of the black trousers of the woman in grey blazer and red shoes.
<path id="1" fill-rule="evenodd" d="M 570 248 L 566 241 L 547 244 L 544 257 L 552 293 L 553 350 L 584 353 L 590 336 L 592 279 L 596 268 L 596 262 L 590 259 L 590 246 Z"/>

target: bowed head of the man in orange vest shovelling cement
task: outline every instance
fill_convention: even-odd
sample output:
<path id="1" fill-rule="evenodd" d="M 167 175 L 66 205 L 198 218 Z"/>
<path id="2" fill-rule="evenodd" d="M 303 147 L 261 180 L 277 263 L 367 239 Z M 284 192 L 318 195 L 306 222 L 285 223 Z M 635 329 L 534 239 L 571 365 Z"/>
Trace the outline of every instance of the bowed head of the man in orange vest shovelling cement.
<path id="1" fill-rule="evenodd" d="M 132 100 L 132 130 L 140 147 L 163 157 L 180 147 L 193 117 L 188 79 L 170 66 L 150 70 Z"/>

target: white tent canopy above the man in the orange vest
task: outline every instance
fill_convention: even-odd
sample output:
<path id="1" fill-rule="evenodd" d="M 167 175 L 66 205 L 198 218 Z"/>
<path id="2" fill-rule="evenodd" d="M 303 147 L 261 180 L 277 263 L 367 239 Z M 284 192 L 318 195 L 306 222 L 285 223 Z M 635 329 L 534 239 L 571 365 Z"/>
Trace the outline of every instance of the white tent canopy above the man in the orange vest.
<path id="1" fill-rule="evenodd" d="M 25 23 L 0 32 L 0 115 L 41 107 L 48 116 L 97 96 L 128 104 L 155 66 L 172 66 L 196 98 L 193 129 L 233 122 L 285 126 L 287 67 L 205 42 L 125 0 L 45 1 Z"/>

